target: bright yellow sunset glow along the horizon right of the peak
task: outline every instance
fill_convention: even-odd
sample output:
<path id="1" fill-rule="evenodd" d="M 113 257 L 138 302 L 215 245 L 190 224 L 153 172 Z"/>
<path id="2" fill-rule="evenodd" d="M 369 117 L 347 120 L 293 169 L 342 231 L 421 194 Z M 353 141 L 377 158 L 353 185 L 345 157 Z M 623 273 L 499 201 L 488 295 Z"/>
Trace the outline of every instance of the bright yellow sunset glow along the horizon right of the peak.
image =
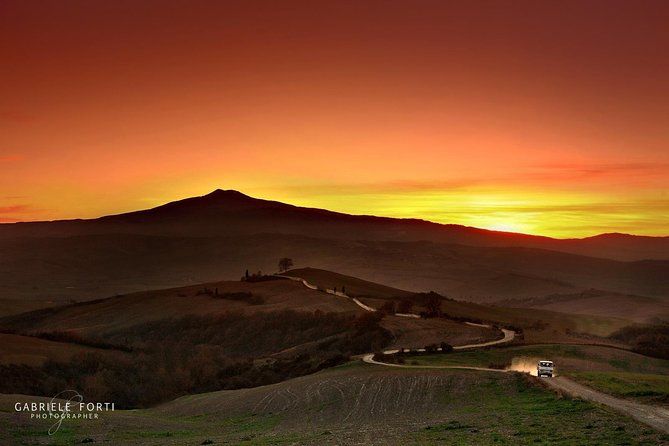
<path id="1" fill-rule="evenodd" d="M 307 188 L 308 190 L 308 188 Z M 264 195 L 264 194 L 263 194 Z M 443 224 L 558 238 L 605 232 L 667 235 L 667 208 L 653 200 L 608 202 L 606 195 L 538 191 L 432 191 L 329 193 L 314 197 L 286 193 L 280 201 L 352 213 L 419 218 Z M 276 196 L 274 197 L 276 198 Z M 659 224 L 653 224 L 653 222 Z"/>

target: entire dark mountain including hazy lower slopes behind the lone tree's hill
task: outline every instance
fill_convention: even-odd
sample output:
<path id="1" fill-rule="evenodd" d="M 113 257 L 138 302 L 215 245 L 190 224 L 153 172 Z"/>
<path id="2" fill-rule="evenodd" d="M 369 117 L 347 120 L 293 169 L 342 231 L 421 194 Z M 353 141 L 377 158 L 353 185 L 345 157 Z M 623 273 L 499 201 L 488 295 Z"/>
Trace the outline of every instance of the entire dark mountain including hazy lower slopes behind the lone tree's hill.
<path id="1" fill-rule="evenodd" d="M 611 241 L 631 252 L 629 237 L 634 239 L 582 239 L 578 247 L 595 246 L 602 253 L 613 249 L 605 243 Z M 0 311 L 238 279 L 246 269 L 276 271 L 278 259 L 286 256 L 298 266 L 476 302 L 591 288 L 669 297 L 669 261 L 621 261 L 545 248 L 570 246 L 563 242 L 577 241 L 353 216 L 215 191 L 92 220 L 0 225 Z M 663 243 L 658 238 L 656 249 Z M 635 251 L 639 257 L 642 248 Z"/>

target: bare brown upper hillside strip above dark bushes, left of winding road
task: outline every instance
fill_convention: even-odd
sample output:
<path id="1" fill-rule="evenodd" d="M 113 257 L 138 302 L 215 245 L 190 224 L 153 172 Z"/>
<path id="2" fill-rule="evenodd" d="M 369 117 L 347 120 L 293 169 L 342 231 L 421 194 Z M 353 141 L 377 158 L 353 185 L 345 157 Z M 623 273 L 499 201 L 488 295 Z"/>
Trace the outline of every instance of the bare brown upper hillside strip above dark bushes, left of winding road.
<path id="1" fill-rule="evenodd" d="M 207 294 L 207 291 L 218 292 L 218 296 Z M 257 303 L 236 297 L 243 294 L 257 299 Z M 334 296 L 324 298 L 321 294 L 290 280 L 213 282 L 36 310 L 2 318 L 0 327 L 28 333 L 69 331 L 103 335 L 152 321 L 185 316 L 216 316 L 230 312 L 362 312 L 347 299 Z"/>

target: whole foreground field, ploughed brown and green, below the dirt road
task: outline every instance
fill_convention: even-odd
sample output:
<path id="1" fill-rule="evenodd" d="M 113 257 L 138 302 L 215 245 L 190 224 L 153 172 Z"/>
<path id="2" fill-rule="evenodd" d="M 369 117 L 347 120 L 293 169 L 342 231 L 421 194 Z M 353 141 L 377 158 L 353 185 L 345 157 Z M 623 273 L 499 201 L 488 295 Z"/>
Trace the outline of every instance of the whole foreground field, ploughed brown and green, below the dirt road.
<path id="1" fill-rule="evenodd" d="M 165 405 L 64 423 L 11 413 L 0 396 L 0 443 L 142 445 L 658 445 L 669 436 L 522 375 L 391 370 L 348 363 L 250 389 L 190 395 Z"/>

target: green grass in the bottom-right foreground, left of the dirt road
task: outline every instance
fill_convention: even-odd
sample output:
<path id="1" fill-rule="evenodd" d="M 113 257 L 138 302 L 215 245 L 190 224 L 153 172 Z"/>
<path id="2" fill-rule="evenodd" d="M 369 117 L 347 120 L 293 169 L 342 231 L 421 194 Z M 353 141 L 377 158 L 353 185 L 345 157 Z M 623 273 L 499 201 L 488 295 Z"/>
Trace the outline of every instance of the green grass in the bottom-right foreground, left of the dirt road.
<path id="1" fill-rule="evenodd" d="M 416 445 L 657 445 L 668 435 L 602 410 L 595 405 L 558 398 L 526 378 L 481 383 L 481 391 L 458 399 L 452 416 L 414 432 Z"/>

